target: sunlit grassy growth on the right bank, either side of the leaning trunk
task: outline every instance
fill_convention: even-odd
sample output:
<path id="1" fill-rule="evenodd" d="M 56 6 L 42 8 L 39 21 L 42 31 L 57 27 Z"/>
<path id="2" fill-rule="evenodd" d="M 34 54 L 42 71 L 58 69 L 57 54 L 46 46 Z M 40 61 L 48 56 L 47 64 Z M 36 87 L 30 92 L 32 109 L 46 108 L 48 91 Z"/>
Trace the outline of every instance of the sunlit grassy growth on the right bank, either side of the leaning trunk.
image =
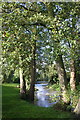
<path id="1" fill-rule="evenodd" d="M 52 89 L 53 91 L 57 91 L 57 94 L 55 95 L 55 99 L 53 97 L 53 101 L 57 99 L 56 96 L 61 95 L 60 86 L 59 86 L 58 83 L 53 84 L 53 85 L 48 85 L 48 88 Z M 79 97 L 80 97 L 80 85 L 76 86 L 75 91 L 71 91 L 70 85 L 68 85 L 67 97 L 71 102 L 71 105 L 67 105 L 67 110 L 68 110 L 68 108 L 69 109 L 75 109 L 75 107 L 76 107 L 76 105 L 78 103 Z M 61 104 L 63 104 L 62 101 L 61 101 Z"/>

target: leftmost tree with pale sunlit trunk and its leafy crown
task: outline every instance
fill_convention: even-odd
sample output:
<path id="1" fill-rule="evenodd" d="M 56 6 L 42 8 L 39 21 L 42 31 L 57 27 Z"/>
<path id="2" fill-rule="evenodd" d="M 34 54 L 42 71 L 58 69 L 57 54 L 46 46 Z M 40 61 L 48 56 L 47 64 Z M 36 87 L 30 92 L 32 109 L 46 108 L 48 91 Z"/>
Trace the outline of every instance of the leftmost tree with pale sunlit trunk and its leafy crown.
<path id="1" fill-rule="evenodd" d="M 20 3 L 6 2 L 3 4 L 3 59 L 5 64 L 7 62 L 10 65 L 10 68 L 19 69 L 20 96 L 25 99 L 26 70 L 24 64 L 29 66 L 31 43 L 28 40 L 30 39 L 30 33 L 28 34 L 27 28 L 21 25 L 22 21 L 18 22 L 18 19 L 21 19 L 22 10 L 17 7 L 20 8 Z"/>

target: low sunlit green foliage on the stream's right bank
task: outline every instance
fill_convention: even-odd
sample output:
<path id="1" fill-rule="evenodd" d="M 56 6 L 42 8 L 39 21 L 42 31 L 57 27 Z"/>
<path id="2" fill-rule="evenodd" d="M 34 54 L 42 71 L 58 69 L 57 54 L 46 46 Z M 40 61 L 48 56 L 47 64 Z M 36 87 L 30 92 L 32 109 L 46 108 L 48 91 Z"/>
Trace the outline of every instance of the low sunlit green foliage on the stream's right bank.
<path id="1" fill-rule="evenodd" d="M 61 92 L 60 92 L 59 84 L 49 85 L 48 87 L 49 87 L 49 89 L 53 89 L 53 91 L 57 91 L 57 93 L 53 96 L 53 101 L 56 102 L 57 100 L 59 100 L 59 102 L 60 102 L 59 105 L 63 106 L 62 107 L 62 110 L 63 110 L 63 108 L 65 106 L 63 105 L 64 102 L 62 102 L 60 100 Z M 68 90 L 67 90 L 67 93 L 65 94 L 65 97 L 70 102 L 70 105 L 66 104 L 65 109 L 68 111 L 72 111 L 76 107 L 79 97 L 80 97 L 80 85 L 77 86 L 77 90 L 75 90 L 75 91 L 70 91 L 70 86 L 68 86 Z M 57 108 L 56 104 L 55 104 L 55 107 Z"/>

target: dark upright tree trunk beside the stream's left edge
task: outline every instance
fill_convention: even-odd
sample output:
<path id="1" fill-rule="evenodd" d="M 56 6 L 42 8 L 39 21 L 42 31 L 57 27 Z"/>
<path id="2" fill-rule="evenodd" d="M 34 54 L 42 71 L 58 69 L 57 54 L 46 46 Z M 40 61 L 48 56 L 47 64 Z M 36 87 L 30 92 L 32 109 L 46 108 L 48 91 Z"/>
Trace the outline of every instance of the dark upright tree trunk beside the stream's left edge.
<path id="1" fill-rule="evenodd" d="M 34 33 L 36 32 L 36 29 L 33 29 Z M 30 100 L 34 101 L 34 91 L 35 91 L 35 81 L 36 81 L 36 40 L 37 36 L 36 33 L 34 35 L 35 37 L 32 37 L 33 40 L 33 49 L 32 49 L 32 60 L 31 60 L 31 82 L 30 82 Z"/>

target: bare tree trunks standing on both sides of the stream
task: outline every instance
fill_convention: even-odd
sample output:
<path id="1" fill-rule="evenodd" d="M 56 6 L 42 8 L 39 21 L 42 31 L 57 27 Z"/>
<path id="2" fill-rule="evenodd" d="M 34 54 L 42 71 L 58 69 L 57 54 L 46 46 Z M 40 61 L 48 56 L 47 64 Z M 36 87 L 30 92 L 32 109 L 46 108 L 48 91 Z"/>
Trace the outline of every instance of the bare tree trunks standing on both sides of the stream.
<path id="1" fill-rule="evenodd" d="M 53 12 L 52 12 L 52 3 L 50 3 L 49 5 L 47 5 L 48 8 L 48 14 L 50 17 L 53 17 Z M 36 60 L 35 60 L 35 54 L 36 54 L 36 42 L 34 43 L 34 49 L 33 49 L 33 59 L 31 61 L 31 83 L 30 83 L 30 93 L 29 93 L 29 97 L 31 101 L 34 101 L 34 85 L 35 85 L 35 75 L 36 75 Z M 71 66 L 70 66 L 70 88 L 71 91 L 75 91 L 76 90 L 76 70 L 75 70 L 75 61 L 74 59 L 71 59 L 70 62 Z M 68 103 L 70 102 L 69 99 L 66 98 L 67 95 L 67 85 L 68 85 L 68 81 L 67 81 L 67 76 L 66 76 L 66 71 L 65 71 L 65 67 L 64 67 L 64 62 L 63 62 L 63 58 L 62 55 L 59 53 L 59 55 L 56 58 L 56 66 L 57 66 L 57 72 L 58 72 L 58 77 L 59 77 L 59 84 L 60 84 L 60 88 L 61 88 L 61 99 L 63 100 L 63 102 Z M 21 74 L 21 71 L 20 71 Z M 25 82 L 24 79 L 22 79 L 22 75 L 20 75 L 20 94 L 25 98 L 26 94 L 26 89 L 25 89 Z M 74 112 L 76 112 L 77 114 L 80 114 L 80 99 L 79 102 L 74 110 Z"/>

